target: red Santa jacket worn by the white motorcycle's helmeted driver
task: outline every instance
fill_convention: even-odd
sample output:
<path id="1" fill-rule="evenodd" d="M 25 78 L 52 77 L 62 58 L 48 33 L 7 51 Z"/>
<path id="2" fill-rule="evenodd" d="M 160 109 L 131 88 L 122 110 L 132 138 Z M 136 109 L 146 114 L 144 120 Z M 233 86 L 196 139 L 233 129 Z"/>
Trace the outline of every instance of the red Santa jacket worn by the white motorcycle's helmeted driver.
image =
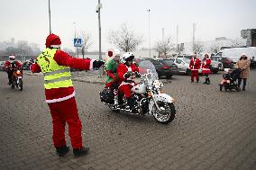
<path id="1" fill-rule="evenodd" d="M 127 78 L 124 77 L 124 74 L 128 71 L 132 71 L 132 72 L 138 71 L 139 72 L 139 67 L 136 67 L 136 65 L 134 65 L 134 64 L 132 64 L 131 67 L 127 67 L 123 63 L 120 64 L 116 69 L 117 76 L 119 79 L 119 82 L 118 82 L 119 85 L 121 85 L 123 81 L 127 80 Z"/>

